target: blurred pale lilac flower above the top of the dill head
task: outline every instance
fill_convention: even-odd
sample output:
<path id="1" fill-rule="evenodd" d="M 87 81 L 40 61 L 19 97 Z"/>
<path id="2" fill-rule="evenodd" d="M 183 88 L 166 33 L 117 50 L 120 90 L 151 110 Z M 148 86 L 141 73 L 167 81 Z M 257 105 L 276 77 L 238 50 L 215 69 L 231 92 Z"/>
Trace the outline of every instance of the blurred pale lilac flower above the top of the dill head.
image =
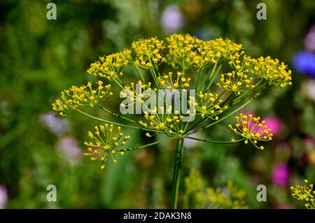
<path id="1" fill-rule="evenodd" d="M 184 18 L 179 6 L 167 6 L 162 12 L 161 24 L 167 34 L 172 34 L 181 29 L 184 24 Z"/>

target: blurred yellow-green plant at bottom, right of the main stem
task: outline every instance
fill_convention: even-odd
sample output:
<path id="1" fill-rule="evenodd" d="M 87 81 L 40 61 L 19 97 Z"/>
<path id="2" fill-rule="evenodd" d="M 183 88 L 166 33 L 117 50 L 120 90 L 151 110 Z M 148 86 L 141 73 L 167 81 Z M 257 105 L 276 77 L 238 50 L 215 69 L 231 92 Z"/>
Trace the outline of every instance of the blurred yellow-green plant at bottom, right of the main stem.
<path id="1" fill-rule="evenodd" d="M 185 178 L 185 208 L 248 208 L 244 200 L 246 191 L 228 182 L 223 189 L 206 187 L 202 176 L 194 168 Z"/>

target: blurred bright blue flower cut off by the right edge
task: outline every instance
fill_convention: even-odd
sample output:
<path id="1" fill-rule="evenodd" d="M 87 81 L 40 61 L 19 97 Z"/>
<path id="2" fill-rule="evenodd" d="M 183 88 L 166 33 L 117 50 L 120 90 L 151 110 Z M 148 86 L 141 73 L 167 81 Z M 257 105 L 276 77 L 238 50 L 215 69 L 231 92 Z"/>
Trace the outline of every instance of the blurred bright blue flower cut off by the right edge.
<path id="1" fill-rule="evenodd" d="M 293 57 L 293 66 L 299 73 L 315 78 L 315 54 L 313 52 L 297 52 Z"/>

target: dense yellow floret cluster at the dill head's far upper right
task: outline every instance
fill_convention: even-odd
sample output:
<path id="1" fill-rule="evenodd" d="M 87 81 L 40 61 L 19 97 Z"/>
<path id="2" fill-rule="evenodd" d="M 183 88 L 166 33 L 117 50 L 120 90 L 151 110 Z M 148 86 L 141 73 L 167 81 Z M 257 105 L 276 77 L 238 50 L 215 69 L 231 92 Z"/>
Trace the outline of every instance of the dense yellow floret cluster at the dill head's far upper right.
<path id="1" fill-rule="evenodd" d="M 279 59 L 270 57 L 258 58 L 253 73 L 258 78 L 266 80 L 269 85 L 281 88 L 292 85 L 291 71 L 288 70 L 286 64 L 279 62 Z"/>

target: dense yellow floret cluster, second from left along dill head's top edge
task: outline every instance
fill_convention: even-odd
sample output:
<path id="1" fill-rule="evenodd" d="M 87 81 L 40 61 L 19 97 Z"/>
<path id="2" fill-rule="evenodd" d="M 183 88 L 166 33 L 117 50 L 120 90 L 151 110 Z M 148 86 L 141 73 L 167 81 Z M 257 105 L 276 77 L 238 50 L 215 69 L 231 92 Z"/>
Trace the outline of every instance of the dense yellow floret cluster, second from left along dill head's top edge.
<path id="1" fill-rule="evenodd" d="M 151 69 L 158 66 L 162 60 L 162 50 L 165 45 L 163 41 L 155 37 L 134 41 L 132 48 L 137 55 L 134 65 L 140 66 L 142 69 Z"/>

